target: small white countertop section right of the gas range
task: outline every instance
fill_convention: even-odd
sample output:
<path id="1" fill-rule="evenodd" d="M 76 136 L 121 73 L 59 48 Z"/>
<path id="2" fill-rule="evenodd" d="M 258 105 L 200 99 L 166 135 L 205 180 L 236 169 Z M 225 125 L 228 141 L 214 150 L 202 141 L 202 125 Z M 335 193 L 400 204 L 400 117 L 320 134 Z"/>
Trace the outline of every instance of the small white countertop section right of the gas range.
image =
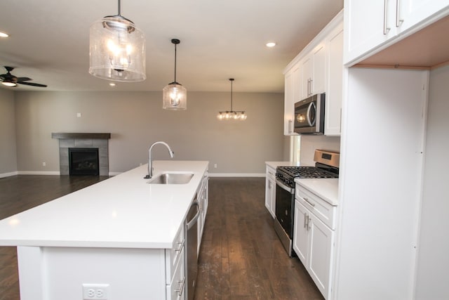
<path id="1" fill-rule="evenodd" d="M 296 178 L 295 183 L 318 195 L 332 205 L 338 205 L 337 178 Z"/>

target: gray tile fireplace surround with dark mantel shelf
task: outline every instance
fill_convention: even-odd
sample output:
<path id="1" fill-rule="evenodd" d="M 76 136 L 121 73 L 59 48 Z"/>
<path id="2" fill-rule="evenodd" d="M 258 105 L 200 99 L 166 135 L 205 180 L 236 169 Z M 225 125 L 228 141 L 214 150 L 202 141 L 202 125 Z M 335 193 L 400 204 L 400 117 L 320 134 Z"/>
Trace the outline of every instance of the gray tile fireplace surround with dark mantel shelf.
<path id="1" fill-rule="evenodd" d="M 60 175 L 69 175 L 69 148 L 98 148 L 100 176 L 109 176 L 109 138 L 111 133 L 51 133 L 59 140 Z"/>

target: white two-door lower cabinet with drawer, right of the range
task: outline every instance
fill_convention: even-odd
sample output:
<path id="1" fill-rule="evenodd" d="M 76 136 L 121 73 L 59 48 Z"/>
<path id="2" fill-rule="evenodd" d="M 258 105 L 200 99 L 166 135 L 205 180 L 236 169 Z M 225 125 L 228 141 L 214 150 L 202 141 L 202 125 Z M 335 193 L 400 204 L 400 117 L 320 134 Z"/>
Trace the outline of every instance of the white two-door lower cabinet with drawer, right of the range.
<path id="1" fill-rule="evenodd" d="M 321 294 L 329 299 L 335 231 L 323 221 L 335 219 L 335 207 L 300 185 L 296 185 L 295 198 L 293 249 Z M 321 220 L 329 213 L 330 219 Z"/>

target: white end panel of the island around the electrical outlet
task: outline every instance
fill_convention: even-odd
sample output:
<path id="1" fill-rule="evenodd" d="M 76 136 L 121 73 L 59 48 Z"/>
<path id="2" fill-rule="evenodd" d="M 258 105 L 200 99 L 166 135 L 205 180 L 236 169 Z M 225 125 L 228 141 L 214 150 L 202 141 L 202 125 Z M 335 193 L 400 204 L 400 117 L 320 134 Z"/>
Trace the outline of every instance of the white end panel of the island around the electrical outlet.
<path id="1" fill-rule="evenodd" d="M 18 247 L 18 262 L 21 300 L 83 299 L 83 284 L 109 285 L 111 299 L 166 299 L 163 249 Z"/>

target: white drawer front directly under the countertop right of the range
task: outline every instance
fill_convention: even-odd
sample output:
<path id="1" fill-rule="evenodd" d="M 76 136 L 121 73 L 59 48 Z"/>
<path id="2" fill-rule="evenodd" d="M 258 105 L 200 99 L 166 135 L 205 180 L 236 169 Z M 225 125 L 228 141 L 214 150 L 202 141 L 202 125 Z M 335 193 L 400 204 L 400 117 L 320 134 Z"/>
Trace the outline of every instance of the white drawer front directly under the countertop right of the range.
<path id="1" fill-rule="evenodd" d="M 296 185 L 295 198 L 307 207 L 320 221 L 329 228 L 335 230 L 335 214 L 337 207 L 330 205 L 327 201 L 312 193 L 301 185 Z"/>

